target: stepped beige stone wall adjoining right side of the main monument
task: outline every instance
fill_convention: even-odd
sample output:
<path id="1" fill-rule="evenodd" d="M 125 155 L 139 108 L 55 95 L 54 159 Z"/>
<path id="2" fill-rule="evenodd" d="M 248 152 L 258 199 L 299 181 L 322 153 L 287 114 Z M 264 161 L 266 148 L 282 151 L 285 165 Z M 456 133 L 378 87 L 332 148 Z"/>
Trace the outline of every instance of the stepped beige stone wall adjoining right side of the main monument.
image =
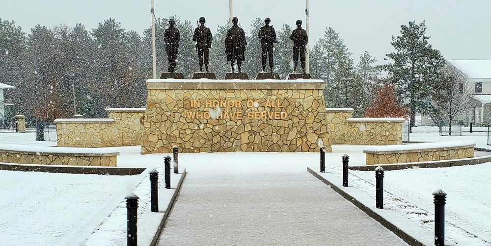
<path id="1" fill-rule="evenodd" d="M 353 108 L 326 108 L 331 144 L 402 144 L 403 118 L 352 118 L 353 111 Z"/>

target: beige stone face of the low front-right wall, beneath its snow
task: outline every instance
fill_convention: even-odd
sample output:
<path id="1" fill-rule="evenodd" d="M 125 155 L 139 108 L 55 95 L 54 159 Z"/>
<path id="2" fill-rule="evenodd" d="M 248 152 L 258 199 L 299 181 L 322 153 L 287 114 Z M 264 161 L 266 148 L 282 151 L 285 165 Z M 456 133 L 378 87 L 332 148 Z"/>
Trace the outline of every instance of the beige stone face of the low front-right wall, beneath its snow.
<path id="1" fill-rule="evenodd" d="M 373 152 L 366 154 L 366 165 L 396 164 L 422 161 L 453 160 L 474 157 L 474 147 L 414 149 L 406 151 Z"/>

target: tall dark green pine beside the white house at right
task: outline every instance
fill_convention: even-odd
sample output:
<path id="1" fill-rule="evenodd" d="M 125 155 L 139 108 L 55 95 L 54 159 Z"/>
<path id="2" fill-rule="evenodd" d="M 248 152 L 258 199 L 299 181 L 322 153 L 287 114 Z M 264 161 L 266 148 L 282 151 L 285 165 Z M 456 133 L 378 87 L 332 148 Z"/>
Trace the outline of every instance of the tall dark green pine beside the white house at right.
<path id="1" fill-rule="evenodd" d="M 386 54 L 384 60 L 390 63 L 382 66 L 393 77 L 396 96 L 409 108 L 411 127 L 417 111 L 434 110 L 431 91 L 444 64 L 440 51 L 432 48 L 430 36 L 425 33 L 425 22 L 401 25 L 401 35 L 392 36 L 391 44 L 396 51 Z"/>

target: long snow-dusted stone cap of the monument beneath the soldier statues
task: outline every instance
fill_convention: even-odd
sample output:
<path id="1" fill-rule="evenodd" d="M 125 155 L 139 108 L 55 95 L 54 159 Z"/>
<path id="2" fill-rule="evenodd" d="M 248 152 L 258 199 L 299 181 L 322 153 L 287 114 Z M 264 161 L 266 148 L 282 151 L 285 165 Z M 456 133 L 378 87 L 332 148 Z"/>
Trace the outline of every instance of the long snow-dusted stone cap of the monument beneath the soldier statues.
<path id="1" fill-rule="evenodd" d="M 148 79 L 147 89 L 161 90 L 321 90 L 321 79 Z"/>

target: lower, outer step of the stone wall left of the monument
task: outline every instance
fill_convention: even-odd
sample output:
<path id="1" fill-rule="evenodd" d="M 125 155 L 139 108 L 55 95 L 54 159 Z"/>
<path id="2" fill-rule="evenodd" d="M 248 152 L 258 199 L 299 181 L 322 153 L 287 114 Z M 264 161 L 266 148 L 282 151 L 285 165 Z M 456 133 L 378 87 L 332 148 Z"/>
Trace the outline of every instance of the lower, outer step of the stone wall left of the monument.
<path id="1" fill-rule="evenodd" d="M 99 148 L 120 146 L 113 119 L 56 119 L 58 147 Z"/>

